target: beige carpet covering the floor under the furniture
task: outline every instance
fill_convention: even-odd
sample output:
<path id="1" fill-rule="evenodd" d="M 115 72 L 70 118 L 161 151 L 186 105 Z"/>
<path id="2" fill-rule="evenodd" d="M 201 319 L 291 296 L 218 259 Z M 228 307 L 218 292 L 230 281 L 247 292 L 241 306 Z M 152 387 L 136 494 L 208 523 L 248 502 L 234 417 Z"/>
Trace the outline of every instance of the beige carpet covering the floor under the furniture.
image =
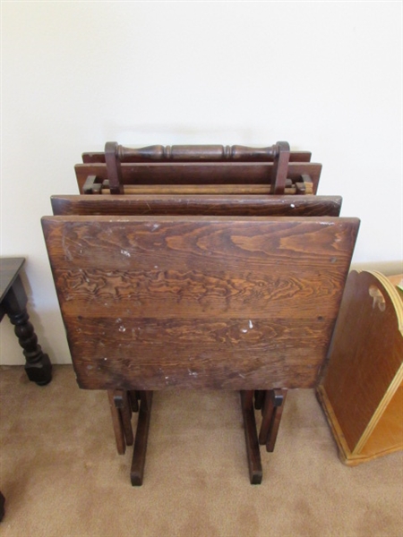
<path id="1" fill-rule="evenodd" d="M 402 453 L 342 465 L 313 390 L 289 393 L 257 486 L 233 392 L 155 394 L 141 488 L 106 394 L 77 388 L 71 366 L 43 388 L 3 367 L 0 405 L 4 537 L 403 535 Z"/>

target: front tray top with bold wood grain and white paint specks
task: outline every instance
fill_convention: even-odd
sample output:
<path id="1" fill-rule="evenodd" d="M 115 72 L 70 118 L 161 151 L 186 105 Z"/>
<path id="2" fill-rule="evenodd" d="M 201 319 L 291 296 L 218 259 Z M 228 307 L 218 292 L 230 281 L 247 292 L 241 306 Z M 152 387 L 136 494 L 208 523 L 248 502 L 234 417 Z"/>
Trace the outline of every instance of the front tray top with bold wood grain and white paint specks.
<path id="1" fill-rule="evenodd" d="M 44 217 L 81 388 L 311 388 L 359 222 Z"/>

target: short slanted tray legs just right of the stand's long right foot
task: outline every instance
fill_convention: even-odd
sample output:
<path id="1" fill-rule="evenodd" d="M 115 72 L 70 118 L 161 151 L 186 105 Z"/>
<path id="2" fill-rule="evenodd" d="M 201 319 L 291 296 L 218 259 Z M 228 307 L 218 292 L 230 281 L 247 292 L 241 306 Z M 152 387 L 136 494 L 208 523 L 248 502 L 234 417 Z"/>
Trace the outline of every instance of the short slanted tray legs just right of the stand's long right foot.
<path id="1" fill-rule="evenodd" d="M 287 389 L 270 389 L 264 397 L 259 443 L 266 444 L 266 449 L 270 452 L 274 451 L 276 445 L 286 396 Z"/>

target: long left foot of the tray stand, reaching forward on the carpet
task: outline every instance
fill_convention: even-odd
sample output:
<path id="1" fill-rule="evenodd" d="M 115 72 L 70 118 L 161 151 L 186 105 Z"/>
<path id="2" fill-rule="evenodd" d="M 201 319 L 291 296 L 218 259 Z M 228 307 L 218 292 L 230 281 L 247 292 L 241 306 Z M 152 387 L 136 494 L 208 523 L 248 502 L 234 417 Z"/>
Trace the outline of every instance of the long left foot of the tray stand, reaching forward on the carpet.
<path id="1" fill-rule="evenodd" d="M 130 479 L 133 487 L 140 487 L 144 475 L 147 440 L 150 429 L 152 391 L 140 392 L 139 421 L 137 422 L 136 439 L 133 449 Z"/>

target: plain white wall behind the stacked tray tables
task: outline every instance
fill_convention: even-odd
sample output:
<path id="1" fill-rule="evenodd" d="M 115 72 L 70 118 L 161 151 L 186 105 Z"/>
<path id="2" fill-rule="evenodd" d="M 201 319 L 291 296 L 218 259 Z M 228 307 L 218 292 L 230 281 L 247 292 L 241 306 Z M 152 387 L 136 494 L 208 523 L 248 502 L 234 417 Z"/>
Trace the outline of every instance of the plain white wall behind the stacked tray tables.
<path id="1" fill-rule="evenodd" d="M 362 219 L 354 262 L 402 254 L 401 3 L 2 3 L 2 256 L 27 259 L 30 317 L 70 362 L 39 224 L 105 141 L 268 145 L 322 162 Z M 23 363 L 4 320 L 1 361 Z"/>

